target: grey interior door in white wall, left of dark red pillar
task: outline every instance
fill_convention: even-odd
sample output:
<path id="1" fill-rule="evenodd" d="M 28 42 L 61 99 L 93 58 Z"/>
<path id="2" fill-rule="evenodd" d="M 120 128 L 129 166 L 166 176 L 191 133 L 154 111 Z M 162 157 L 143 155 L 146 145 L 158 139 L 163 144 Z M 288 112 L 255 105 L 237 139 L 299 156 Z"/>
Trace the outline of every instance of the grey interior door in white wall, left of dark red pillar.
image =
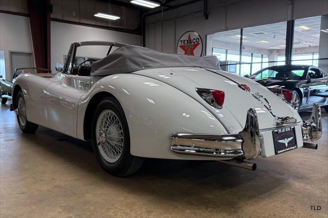
<path id="1" fill-rule="evenodd" d="M 10 78 L 8 80 L 12 80 L 12 76 L 16 68 L 31 68 L 32 66 L 32 53 L 23 53 L 23 52 L 10 52 Z"/>

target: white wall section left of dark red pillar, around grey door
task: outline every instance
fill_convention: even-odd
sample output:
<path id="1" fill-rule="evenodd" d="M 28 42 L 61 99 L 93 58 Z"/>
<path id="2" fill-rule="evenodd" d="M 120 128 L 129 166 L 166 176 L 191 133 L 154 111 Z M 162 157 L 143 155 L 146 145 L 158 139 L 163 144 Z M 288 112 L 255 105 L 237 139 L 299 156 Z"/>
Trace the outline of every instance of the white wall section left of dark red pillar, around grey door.
<path id="1" fill-rule="evenodd" d="M 0 13 L 0 50 L 5 52 L 6 78 L 10 78 L 9 51 L 33 53 L 29 18 Z"/>

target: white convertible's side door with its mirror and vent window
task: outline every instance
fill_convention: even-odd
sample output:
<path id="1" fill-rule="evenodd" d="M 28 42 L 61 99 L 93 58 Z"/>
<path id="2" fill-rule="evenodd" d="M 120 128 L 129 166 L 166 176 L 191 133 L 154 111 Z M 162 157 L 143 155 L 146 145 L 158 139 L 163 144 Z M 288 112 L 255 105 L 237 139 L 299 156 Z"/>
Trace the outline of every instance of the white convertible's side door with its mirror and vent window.
<path id="1" fill-rule="evenodd" d="M 71 75 L 73 58 L 69 58 L 65 66 L 63 72 L 53 77 L 54 82 L 48 88 L 51 95 L 47 105 L 48 126 L 76 137 L 77 105 L 80 97 L 90 90 L 91 77 Z"/>

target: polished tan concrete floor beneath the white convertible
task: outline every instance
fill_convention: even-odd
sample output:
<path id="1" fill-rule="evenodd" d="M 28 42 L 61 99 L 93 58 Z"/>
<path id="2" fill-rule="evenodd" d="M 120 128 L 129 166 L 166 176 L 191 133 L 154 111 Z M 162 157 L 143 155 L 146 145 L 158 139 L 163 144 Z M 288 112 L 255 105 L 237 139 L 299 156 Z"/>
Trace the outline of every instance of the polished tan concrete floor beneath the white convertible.
<path id="1" fill-rule="evenodd" d="M 325 112 L 318 150 L 258 158 L 256 171 L 148 159 L 128 178 L 104 172 L 87 142 L 44 127 L 23 134 L 8 103 L 0 123 L 1 217 L 328 216 Z"/>

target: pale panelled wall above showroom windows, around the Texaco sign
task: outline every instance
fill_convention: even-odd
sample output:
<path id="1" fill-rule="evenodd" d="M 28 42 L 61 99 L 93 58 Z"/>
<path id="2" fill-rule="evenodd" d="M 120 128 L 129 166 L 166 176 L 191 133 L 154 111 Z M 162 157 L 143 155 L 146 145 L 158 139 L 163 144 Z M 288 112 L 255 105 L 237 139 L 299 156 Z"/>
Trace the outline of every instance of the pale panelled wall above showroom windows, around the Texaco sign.
<path id="1" fill-rule="evenodd" d="M 203 15 L 202 1 L 146 17 L 145 46 L 175 53 L 175 42 L 189 30 L 198 32 L 204 43 L 206 35 L 216 32 L 273 24 L 292 17 L 298 19 L 328 14 L 328 1 L 324 0 L 295 0 L 294 13 L 292 13 L 290 0 L 253 0 L 242 3 L 229 0 L 227 9 L 224 8 L 222 2 L 221 4 L 219 2 L 209 0 L 210 14 L 207 20 Z M 231 3 L 238 4 L 229 5 Z M 156 30 L 160 26 L 162 31 L 158 33 Z M 204 45 L 203 55 L 205 52 Z"/>

